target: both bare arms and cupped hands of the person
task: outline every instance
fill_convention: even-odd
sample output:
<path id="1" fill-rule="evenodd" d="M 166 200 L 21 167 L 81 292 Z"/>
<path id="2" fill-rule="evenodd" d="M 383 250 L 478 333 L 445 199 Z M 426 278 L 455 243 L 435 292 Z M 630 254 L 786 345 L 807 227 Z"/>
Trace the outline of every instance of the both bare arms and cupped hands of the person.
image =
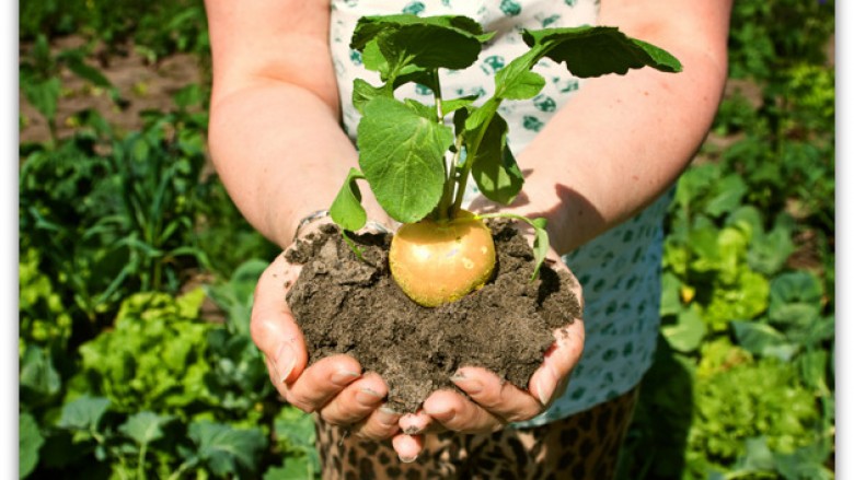
<path id="1" fill-rule="evenodd" d="M 644 69 L 591 79 L 517 154 L 530 172 L 524 194 L 500 209 L 545 216 L 552 259 L 649 204 L 690 163 L 726 81 L 730 9 L 731 0 L 601 0 L 601 24 L 669 50 L 684 71 Z M 288 248 L 300 219 L 327 208 L 349 167 L 357 165 L 356 151 L 338 126 L 328 1 L 206 0 L 206 10 L 215 166 L 253 226 Z M 369 216 L 392 225 L 363 191 Z M 486 201 L 473 207 L 496 209 Z M 556 337 L 528 390 L 465 367 L 453 379 L 470 398 L 436 391 L 422 411 L 400 415 L 383 408 L 388 387 L 382 378 L 362 375 L 354 359 L 337 355 L 307 367 L 304 341 L 282 291 L 298 271 L 278 257 L 255 292 L 252 337 L 267 358 L 270 379 L 285 400 L 304 411 L 349 424 L 351 434 L 391 438 L 404 460 L 417 457 L 425 432 L 489 432 L 534 417 L 563 391 L 581 354 L 584 328 L 576 321 L 566 336 Z"/>

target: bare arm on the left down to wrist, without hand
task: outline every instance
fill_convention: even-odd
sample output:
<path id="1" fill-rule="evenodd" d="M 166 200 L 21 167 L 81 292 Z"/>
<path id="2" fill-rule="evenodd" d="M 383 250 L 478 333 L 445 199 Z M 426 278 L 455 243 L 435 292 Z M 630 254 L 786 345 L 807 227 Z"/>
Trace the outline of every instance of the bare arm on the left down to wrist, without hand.
<path id="1" fill-rule="evenodd" d="M 285 247 L 357 162 L 338 126 L 328 1 L 206 0 L 206 8 L 212 160 L 250 223 Z"/>

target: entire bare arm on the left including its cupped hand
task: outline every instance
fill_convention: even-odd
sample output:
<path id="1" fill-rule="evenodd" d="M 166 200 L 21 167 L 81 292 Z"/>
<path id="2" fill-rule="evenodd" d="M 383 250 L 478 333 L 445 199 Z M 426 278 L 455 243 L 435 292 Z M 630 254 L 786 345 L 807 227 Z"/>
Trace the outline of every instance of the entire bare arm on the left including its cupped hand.
<path id="1" fill-rule="evenodd" d="M 300 219 L 328 207 L 357 163 L 338 126 L 328 2 L 206 0 L 206 8 L 215 166 L 253 226 L 287 248 Z M 252 339 L 270 381 L 289 403 L 330 423 L 351 424 L 354 434 L 399 437 L 400 414 L 382 408 L 388 387 L 379 375 L 362 374 L 348 355 L 308 365 L 302 332 L 285 302 L 286 285 L 298 273 L 280 255 L 255 288 Z M 399 449 L 408 455 L 405 443 Z"/>

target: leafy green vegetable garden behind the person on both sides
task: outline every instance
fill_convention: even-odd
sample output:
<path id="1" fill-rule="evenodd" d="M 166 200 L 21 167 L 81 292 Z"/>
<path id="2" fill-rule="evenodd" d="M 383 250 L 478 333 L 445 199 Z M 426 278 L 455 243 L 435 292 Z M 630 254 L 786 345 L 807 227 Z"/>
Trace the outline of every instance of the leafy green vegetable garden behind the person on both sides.
<path id="1" fill-rule="evenodd" d="M 21 478 L 316 478 L 311 418 L 276 397 L 246 330 L 278 251 L 205 167 L 201 8 L 21 5 Z M 833 9 L 736 2 L 729 91 L 668 218 L 665 325 L 622 479 L 833 478 Z M 115 74 L 187 52 L 203 80 L 178 89 Z M 32 134 L 31 96 L 55 134 Z M 140 103 L 155 106 L 128 121 Z M 153 189 L 124 198 L 126 182 Z"/>

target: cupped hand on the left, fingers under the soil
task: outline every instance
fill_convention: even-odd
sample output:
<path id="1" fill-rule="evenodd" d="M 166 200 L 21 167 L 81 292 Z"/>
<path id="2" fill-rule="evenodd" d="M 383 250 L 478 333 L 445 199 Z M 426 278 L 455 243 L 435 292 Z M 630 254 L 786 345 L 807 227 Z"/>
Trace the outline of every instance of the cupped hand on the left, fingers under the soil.
<path id="1" fill-rule="evenodd" d="M 300 410 L 318 412 L 331 424 L 349 425 L 351 434 L 366 438 L 392 437 L 400 430 L 400 414 L 383 408 L 388 386 L 379 375 L 362 375 L 359 362 L 343 354 L 307 368 L 305 340 L 285 301 L 299 271 L 279 255 L 255 289 L 251 332 L 266 358 L 270 381 Z"/>

